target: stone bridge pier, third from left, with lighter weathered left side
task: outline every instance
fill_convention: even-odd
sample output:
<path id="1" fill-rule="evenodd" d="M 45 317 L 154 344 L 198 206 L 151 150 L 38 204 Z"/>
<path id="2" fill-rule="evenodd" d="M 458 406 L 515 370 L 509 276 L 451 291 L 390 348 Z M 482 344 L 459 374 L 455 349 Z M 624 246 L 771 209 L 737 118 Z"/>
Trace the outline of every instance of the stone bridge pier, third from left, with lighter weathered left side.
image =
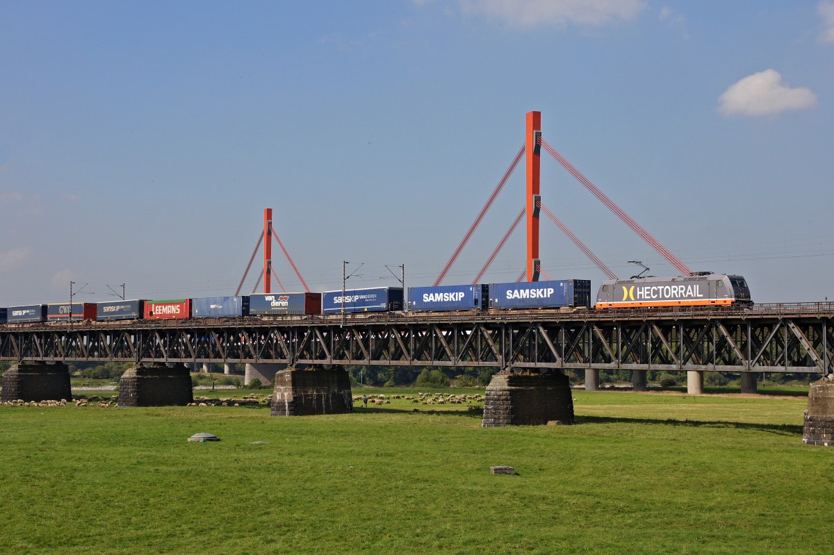
<path id="1" fill-rule="evenodd" d="M 350 377 L 342 367 L 286 368 L 275 374 L 272 416 L 354 412 Z"/>

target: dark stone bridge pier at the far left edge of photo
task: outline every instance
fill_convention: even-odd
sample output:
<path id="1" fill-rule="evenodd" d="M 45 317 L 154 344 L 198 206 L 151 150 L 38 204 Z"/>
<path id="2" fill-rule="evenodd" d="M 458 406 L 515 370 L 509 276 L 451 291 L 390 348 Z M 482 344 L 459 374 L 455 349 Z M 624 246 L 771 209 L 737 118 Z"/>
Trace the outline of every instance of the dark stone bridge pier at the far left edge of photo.
<path id="1" fill-rule="evenodd" d="M 60 401 L 73 398 L 69 368 L 64 363 L 17 363 L 3 375 L 3 403 L 7 401 Z"/>

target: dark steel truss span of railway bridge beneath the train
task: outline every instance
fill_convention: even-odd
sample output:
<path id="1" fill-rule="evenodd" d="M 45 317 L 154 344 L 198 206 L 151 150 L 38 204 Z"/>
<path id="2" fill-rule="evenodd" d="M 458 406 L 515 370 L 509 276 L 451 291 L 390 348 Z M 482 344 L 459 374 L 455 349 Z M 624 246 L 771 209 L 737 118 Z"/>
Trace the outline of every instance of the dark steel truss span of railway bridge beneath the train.
<path id="1" fill-rule="evenodd" d="M 0 358 L 828 375 L 834 303 L 6 325 Z"/>

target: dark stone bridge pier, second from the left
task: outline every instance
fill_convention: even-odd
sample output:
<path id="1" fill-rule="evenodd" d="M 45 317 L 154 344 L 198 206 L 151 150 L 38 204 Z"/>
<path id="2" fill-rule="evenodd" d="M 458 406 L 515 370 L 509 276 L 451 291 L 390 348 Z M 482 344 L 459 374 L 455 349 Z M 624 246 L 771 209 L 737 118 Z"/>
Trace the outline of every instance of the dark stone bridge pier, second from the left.
<path id="1" fill-rule="evenodd" d="M 175 407 L 193 400 L 191 374 L 184 364 L 138 363 L 118 380 L 119 407 Z"/>

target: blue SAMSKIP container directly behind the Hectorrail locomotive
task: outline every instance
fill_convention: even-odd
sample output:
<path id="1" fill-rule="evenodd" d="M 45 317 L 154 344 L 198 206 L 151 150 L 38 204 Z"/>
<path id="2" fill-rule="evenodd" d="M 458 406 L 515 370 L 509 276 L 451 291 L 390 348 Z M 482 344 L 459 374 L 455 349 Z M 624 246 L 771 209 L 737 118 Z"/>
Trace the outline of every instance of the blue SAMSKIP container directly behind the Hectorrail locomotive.
<path id="1" fill-rule="evenodd" d="M 589 307 L 589 279 L 490 283 L 490 308 Z"/>

